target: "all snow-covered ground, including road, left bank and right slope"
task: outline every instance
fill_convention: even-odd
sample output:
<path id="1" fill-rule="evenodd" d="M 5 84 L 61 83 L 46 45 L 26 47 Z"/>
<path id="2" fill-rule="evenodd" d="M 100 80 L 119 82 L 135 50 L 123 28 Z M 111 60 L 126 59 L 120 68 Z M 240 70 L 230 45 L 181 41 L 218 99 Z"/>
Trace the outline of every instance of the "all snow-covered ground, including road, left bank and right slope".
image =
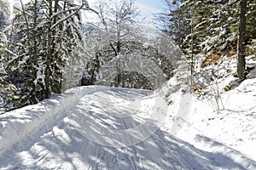
<path id="1" fill-rule="evenodd" d="M 219 91 L 217 112 L 210 97 L 183 89 L 172 91 L 170 105 L 162 91 L 67 90 L 0 115 L 0 169 L 254 170 L 256 69 Z"/>

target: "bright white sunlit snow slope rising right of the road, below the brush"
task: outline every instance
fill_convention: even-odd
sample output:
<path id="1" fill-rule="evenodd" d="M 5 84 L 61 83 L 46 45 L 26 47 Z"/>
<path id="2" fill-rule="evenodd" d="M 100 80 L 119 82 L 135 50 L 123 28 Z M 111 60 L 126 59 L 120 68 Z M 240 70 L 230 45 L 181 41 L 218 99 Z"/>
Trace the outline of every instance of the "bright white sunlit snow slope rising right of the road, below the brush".
<path id="1" fill-rule="evenodd" d="M 251 82 L 246 80 L 238 88 L 223 94 L 225 108 L 218 114 L 207 99 L 198 100 L 192 96 L 189 102 L 182 105 L 176 105 L 174 101 L 176 109 L 162 128 L 196 148 L 227 156 L 240 162 L 245 169 L 255 169 L 246 160 L 256 160 L 256 79 L 252 82 L 254 87 L 246 88 L 250 93 L 240 91 L 243 85 Z M 189 110 L 183 115 L 177 113 L 178 107 L 188 108 L 188 105 Z M 244 155 L 241 156 L 241 153 Z M 227 163 L 218 156 L 212 159 L 223 165 Z"/>

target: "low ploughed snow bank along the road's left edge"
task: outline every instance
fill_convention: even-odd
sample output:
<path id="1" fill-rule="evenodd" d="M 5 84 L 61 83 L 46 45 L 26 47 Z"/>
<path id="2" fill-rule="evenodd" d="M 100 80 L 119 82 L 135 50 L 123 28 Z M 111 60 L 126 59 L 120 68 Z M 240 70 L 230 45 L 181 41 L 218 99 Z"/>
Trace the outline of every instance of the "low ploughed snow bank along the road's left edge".
<path id="1" fill-rule="evenodd" d="M 72 88 L 62 95 L 45 99 L 37 105 L 28 105 L 19 110 L 0 115 L 0 152 L 25 139 L 31 133 L 40 133 L 47 129 L 45 125 L 67 116 L 67 112 L 79 102 L 85 94 L 92 94 L 109 87 L 88 86 Z"/>

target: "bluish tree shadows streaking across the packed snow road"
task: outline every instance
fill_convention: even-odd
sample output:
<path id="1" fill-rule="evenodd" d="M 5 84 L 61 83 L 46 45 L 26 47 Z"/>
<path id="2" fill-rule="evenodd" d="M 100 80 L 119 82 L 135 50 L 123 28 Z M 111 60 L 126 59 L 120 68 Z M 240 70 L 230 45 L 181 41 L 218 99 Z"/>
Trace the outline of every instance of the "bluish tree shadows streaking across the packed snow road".
<path id="1" fill-rule="evenodd" d="M 44 132 L 33 134 L 15 144 L 13 150 L 1 154 L 0 169 L 256 168 L 256 161 L 236 150 L 229 148 L 236 152 L 236 156 L 243 157 L 243 163 L 223 152 L 212 153 L 195 148 L 154 123 L 137 121 L 131 113 L 117 116 L 120 111 L 130 109 L 132 112 L 132 108 L 104 110 L 108 101 L 105 100 L 105 105 L 100 105 L 103 100 L 98 105 L 89 105 L 88 101 L 88 96 L 81 99 L 72 111 L 66 113 L 67 117 L 56 122 L 49 131 L 44 129 Z M 132 132 L 137 127 L 140 133 Z M 150 128 L 155 129 L 154 133 L 150 133 Z M 148 138 L 140 139 L 144 137 L 141 133 L 149 133 Z M 126 138 L 122 136 L 124 134 Z M 224 150 L 227 148 L 224 144 L 214 144 Z"/>

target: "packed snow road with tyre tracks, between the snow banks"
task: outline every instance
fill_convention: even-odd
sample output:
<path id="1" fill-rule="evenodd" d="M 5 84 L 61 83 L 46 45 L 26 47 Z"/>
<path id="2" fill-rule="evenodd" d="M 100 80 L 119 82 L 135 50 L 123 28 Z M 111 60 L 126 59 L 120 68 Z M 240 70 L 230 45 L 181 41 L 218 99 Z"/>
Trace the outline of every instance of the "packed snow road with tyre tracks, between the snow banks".
<path id="1" fill-rule="evenodd" d="M 106 88 L 78 98 L 59 105 L 61 116 L 4 150 L 0 169 L 203 170 L 256 165 L 199 150 L 160 129 L 168 114 L 151 92 Z"/>

